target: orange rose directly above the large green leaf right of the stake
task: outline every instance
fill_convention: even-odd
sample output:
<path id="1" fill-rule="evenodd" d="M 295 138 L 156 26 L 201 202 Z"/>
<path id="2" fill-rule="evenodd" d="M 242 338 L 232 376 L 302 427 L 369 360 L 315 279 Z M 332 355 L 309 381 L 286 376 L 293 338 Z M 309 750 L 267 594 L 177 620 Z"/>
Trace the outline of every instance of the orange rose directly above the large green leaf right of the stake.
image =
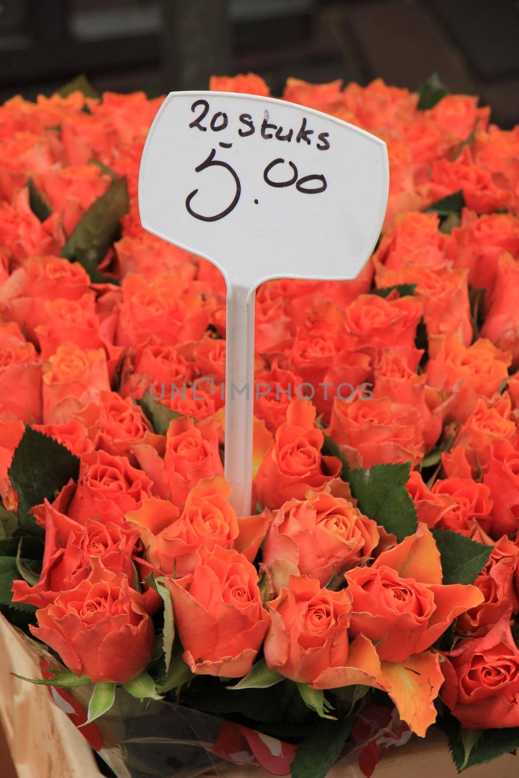
<path id="1" fill-rule="evenodd" d="M 417 463 L 423 457 L 423 429 L 416 424 L 416 408 L 389 398 L 352 402 L 335 398 L 329 433 L 353 468 Z"/>

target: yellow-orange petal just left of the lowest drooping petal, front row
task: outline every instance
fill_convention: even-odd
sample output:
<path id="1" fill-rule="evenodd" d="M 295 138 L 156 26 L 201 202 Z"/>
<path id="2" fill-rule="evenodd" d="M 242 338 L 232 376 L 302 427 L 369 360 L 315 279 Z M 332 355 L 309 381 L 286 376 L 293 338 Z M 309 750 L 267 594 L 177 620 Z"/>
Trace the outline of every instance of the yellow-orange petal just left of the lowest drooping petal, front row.
<path id="1" fill-rule="evenodd" d="M 349 647 L 347 661 L 347 667 L 324 670 L 311 684 L 312 688 L 338 689 L 341 686 L 363 684 L 374 686 L 376 689 L 386 689 L 377 649 L 366 637 L 356 636 Z"/>

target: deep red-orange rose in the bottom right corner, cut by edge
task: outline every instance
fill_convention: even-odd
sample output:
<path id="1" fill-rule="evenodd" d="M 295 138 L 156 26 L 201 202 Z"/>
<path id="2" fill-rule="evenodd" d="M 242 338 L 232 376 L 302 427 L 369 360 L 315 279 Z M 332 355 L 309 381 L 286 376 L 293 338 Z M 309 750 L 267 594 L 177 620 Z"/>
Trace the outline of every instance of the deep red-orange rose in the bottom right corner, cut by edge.
<path id="1" fill-rule="evenodd" d="M 441 697 L 462 727 L 519 726 L 519 649 L 508 615 L 485 636 L 457 643 L 441 669 Z"/>

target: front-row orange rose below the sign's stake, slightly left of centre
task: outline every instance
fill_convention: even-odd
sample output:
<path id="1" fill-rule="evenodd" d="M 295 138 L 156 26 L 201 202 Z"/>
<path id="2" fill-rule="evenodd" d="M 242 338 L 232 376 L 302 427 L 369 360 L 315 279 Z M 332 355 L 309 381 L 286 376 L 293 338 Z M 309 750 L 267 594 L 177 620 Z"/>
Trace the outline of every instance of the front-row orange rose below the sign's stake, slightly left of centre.
<path id="1" fill-rule="evenodd" d="M 227 678 L 247 675 L 268 626 L 251 562 L 216 548 L 203 555 L 192 576 L 166 580 L 183 659 L 191 671 Z"/>

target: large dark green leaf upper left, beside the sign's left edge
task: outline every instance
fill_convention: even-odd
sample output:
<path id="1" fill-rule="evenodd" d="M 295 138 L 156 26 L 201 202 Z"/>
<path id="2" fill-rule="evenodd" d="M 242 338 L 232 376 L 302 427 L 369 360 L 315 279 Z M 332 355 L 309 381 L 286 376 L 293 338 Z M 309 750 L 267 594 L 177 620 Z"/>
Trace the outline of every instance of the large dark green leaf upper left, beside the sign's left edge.
<path id="1" fill-rule="evenodd" d="M 128 212 L 128 208 L 126 178 L 118 178 L 79 219 L 72 235 L 61 249 L 61 257 L 71 262 L 79 262 L 88 272 L 92 282 L 116 283 L 114 279 L 103 275 L 97 265 L 117 239 L 119 219 Z"/>

